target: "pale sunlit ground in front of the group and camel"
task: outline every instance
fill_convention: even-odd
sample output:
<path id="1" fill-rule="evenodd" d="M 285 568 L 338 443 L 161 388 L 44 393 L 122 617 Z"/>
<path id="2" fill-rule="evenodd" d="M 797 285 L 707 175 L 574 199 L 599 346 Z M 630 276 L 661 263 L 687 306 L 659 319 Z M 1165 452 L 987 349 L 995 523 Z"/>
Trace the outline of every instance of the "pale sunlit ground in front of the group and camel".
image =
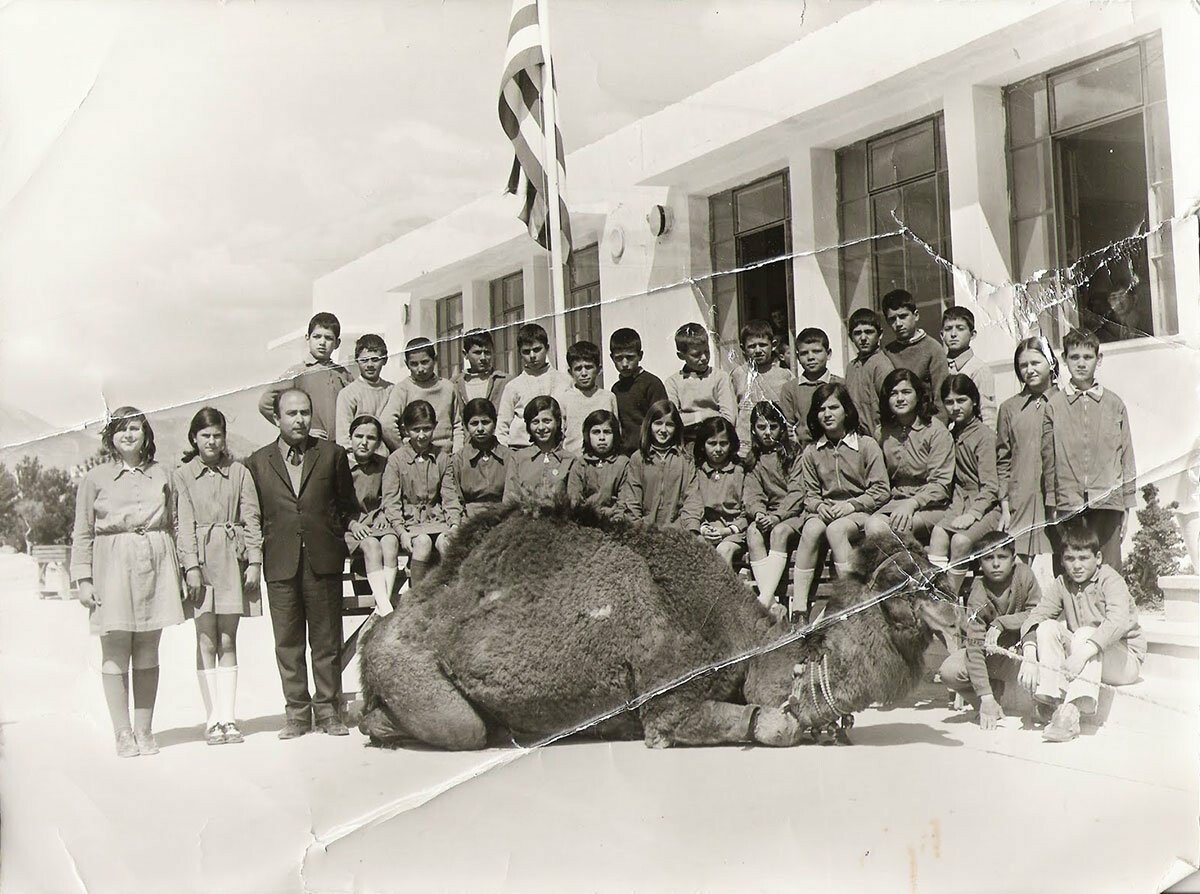
<path id="1" fill-rule="evenodd" d="M 163 637 L 162 754 L 121 761 L 83 608 L 37 600 L 0 556 L 0 890 L 1150 894 L 1196 863 L 1194 715 L 1058 746 L 944 702 L 865 712 L 854 748 L 281 743 L 260 618 L 241 636 L 250 734 L 209 748 L 192 636 Z"/>

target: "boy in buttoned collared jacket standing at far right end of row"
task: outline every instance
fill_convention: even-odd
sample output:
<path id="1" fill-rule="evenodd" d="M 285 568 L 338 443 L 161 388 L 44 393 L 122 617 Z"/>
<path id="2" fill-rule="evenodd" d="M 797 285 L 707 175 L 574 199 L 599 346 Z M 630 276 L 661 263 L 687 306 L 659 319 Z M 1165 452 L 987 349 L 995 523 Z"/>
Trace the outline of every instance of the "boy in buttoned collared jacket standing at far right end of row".
<path id="1" fill-rule="evenodd" d="M 1129 414 L 1096 382 L 1094 332 L 1067 332 L 1062 356 L 1070 379 L 1050 394 L 1042 419 L 1042 491 L 1050 521 L 1080 515 L 1100 539 L 1104 564 L 1120 571 L 1128 511 L 1138 505 Z"/>

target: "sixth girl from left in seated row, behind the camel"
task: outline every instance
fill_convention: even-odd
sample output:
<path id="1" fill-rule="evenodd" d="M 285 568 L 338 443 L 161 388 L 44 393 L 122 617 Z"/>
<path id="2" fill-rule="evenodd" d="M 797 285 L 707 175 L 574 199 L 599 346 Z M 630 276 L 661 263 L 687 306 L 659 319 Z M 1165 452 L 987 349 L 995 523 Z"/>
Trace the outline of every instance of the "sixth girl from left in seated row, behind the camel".
<path id="1" fill-rule="evenodd" d="M 642 420 L 641 448 L 629 461 L 618 502 L 622 514 L 647 524 L 700 533 L 704 506 L 696 467 L 684 456 L 683 420 L 671 401 L 655 401 Z"/>

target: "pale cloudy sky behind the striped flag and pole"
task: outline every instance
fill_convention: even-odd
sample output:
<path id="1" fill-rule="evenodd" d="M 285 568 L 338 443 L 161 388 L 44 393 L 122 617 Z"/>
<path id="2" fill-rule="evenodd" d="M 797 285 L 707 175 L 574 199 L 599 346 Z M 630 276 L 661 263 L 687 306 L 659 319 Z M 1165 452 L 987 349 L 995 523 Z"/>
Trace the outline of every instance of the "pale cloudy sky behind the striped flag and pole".
<path id="1" fill-rule="evenodd" d="M 568 151 L 836 8 L 811 6 L 553 0 Z M 0 406 L 71 427 L 271 379 L 314 278 L 503 188 L 509 8 L 0 6 Z"/>

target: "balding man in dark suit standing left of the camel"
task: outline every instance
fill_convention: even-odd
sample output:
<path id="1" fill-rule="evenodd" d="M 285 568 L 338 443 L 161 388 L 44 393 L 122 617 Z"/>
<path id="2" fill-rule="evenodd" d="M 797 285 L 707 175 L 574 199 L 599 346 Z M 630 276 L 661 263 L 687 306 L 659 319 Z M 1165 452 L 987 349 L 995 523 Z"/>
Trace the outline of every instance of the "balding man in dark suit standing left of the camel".
<path id="1" fill-rule="evenodd" d="M 246 462 L 263 512 L 263 576 L 275 660 L 287 701 L 281 739 L 312 731 L 346 736 L 342 697 L 344 534 L 358 514 L 346 451 L 310 437 L 312 401 L 292 388 L 275 396 L 280 437 Z M 316 695 L 308 694 L 305 630 Z"/>

